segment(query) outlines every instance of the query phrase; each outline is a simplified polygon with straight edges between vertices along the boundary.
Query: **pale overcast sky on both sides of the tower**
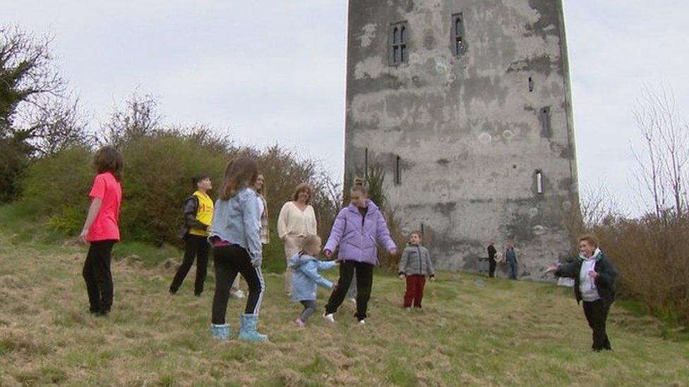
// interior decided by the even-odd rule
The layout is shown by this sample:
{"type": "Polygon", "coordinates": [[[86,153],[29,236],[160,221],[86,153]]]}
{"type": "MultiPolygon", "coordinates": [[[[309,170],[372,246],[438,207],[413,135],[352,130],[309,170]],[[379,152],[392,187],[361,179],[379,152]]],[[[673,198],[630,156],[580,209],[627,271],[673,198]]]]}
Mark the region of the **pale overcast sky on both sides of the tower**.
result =
{"type": "MultiPolygon", "coordinates": [[[[630,144],[645,85],[689,104],[689,1],[564,0],[580,185],[638,212],[630,144]],[[683,66],[685,65],[685,66],[683,66]]],[[[341,175],[347,1],[0,0],[0,23],[52,34],[94,127],[133,91],[164,120],[278,142],[341,175]]]]}

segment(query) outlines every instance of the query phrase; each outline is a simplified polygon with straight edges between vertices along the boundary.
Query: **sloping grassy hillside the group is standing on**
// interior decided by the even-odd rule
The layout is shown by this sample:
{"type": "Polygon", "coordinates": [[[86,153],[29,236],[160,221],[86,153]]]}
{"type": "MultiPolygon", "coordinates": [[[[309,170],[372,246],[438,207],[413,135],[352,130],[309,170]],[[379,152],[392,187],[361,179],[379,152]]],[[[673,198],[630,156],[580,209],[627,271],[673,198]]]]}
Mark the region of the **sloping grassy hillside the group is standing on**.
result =
{"type": "MultiPolygon", "coordinates": [[[[123,244],[112,314],[91,317],[85,247],[2,216],[0,225],[1,386],[689,386],[689,343],[661,338],[655,319],[613,306],[614,351],[593,353],[570,289],[469,274],[441,273],[413,313],[400,308],[402,281],[377,275],[368,325],[346,303],[334,325],[314,316],[304,329],[282,276],[266,274],[259,327],[271,342],[216,343],[212,269],[202,297],[192,295],[193,271],[171,296],[174,264],[160,258],[179,254],[123,244]]],[[[230,302],[234,331],[243,305],[230,302]]]]}

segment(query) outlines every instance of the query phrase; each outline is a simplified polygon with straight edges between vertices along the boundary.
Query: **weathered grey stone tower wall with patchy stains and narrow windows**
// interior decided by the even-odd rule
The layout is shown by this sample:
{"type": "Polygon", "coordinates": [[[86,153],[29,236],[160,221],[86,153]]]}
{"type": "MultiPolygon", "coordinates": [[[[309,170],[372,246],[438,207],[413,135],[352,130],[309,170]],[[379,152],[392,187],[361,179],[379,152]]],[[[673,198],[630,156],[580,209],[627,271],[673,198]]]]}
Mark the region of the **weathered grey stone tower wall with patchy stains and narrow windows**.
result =
{"type": "Polygon", "coordinates": [[[488,240],[513,240],[521,275],[542,278],[570,251],[578,201],[561,0],[350,0],[348,29],[347,171],[366,152],[386,168],[390,204],[407,228],[424,224],[437,266],[476,269],[488,240]],[[454,56],[460,12],[465,53],[454,56]],[[389,66],[390,23],[402,20],[409,61],[389,66]]]}

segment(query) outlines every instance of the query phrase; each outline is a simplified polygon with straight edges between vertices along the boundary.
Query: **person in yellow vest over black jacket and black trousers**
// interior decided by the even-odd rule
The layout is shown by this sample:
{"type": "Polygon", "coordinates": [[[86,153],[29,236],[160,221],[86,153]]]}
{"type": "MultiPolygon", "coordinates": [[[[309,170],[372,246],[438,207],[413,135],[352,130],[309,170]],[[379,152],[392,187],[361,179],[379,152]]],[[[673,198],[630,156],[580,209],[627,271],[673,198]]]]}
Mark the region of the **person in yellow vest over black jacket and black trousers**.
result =
{"type": "Polygon", "coordinates": [[[213,201],[208,196],[208,191],[212,189],[212,182],[208,175],[199,173],[191,179],[191,183],[196,191],[184,201],[184,223],[180,231],[180,236],[184,239],[184,259],[172,279],[170,294],[177,293],[196,259],[194,295],[198,297],[203,293],[203,283],[208,272],[208,226],[213,218],[213,201]]]}

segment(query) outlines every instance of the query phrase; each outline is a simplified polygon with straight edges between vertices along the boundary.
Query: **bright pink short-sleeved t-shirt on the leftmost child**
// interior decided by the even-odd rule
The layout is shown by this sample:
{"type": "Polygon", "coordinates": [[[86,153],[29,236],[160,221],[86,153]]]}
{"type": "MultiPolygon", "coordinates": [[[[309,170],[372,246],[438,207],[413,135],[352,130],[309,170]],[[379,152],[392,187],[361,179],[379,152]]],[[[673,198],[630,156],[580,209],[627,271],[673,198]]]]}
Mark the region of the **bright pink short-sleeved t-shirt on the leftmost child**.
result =
{"type": "Polygon", "coordinates": [[[102,205],[88,229],[87,242],[98,240],[119,240],[119,206],[122,202],[122,186],[112,173],[98,174],[93,179],[93,187],[88,197],[102,199],[102,205]]]}

